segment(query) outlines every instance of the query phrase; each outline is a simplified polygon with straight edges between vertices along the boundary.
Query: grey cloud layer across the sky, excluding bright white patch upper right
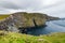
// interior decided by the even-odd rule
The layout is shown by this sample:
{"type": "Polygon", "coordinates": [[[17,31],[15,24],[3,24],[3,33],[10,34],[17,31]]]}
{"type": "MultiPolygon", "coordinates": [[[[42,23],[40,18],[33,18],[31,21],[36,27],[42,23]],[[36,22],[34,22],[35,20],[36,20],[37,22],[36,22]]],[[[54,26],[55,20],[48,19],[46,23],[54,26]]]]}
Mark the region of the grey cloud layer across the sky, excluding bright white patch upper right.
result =
{"type": "Polygon", "coordinates": [[[5,0],[5,1],[0,0],[0,11],[9,12],[6,9],[26,10],[26,11],[35,11],[35,12],[40,11],[42,13],[44,12],[52,16],[64,17],[63,15],[65,14],[64,13],[65,12],[65,0],[61,0],[61,2],[57,2],[52,5],[43,5],[41,1],[42,0],[5,0]]]}

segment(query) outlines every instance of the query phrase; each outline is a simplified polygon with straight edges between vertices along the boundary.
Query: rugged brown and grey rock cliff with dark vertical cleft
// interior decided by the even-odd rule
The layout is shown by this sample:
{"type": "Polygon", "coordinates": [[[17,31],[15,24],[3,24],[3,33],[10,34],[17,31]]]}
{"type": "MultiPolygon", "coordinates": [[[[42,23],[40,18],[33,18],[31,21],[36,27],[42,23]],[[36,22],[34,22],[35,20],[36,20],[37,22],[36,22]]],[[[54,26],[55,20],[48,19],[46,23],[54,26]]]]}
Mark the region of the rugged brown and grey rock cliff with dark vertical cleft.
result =
{"type": "MultiPolygon", "coordinates": [[[[52,17],[51,17],[52,18],[52,17]]],[[[11,14],[3,22],[0,22],[0,30],[18,32],[18,28],[44,26],[48,15],[41,13],[18,12],[11,14]]]]}

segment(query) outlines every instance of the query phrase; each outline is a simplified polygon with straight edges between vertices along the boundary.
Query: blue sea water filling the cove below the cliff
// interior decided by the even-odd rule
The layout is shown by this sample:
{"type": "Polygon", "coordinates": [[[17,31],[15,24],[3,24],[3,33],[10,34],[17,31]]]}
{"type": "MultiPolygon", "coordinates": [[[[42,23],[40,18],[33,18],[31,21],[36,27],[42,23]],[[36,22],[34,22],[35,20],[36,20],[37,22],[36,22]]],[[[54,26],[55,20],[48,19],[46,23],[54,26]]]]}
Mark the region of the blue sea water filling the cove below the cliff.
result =
{"type": "Polygon", "coordinates": [[[48,34],[52,32],[65,32],[65,20],[47,22],[47,27],[31,29],[27,33],[32,35],[48,34]]]}

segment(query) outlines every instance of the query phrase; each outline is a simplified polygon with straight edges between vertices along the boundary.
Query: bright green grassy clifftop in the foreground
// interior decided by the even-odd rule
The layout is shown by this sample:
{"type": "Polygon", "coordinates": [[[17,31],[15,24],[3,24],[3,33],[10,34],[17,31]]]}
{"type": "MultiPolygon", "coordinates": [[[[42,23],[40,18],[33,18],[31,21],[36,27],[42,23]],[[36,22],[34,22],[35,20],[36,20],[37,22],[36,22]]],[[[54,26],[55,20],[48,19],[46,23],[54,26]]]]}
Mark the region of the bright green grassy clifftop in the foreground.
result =
{"type": "Polygon", "coordinates": [[[0,31],[0,43],[65,43],[65,32],[36,37],[0,31]]]}

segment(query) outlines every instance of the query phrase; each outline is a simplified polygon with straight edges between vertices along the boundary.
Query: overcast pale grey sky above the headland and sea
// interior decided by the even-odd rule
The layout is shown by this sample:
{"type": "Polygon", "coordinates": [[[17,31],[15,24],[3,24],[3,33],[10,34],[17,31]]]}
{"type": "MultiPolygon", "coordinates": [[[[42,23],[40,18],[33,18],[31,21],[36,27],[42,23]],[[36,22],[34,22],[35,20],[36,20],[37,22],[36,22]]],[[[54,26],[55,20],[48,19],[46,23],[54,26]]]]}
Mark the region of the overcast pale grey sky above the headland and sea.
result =
{"type": "Polygon", "coordinates": [[[0,0],[0,14],[38,12],[65,17],[65,0],[0,0]]]}

